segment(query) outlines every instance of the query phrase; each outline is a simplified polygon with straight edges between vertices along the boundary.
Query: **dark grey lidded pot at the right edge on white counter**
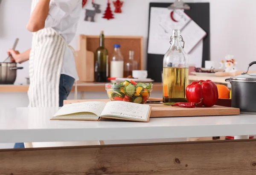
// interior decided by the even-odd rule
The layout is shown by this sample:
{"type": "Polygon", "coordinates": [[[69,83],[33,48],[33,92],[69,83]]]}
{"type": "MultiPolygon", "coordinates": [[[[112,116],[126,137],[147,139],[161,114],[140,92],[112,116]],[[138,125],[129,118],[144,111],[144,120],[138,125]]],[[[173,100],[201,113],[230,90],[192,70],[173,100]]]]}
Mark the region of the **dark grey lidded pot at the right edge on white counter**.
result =
{"type": "Polygon", "coordinates": [[[231,83],[231,107],[240,108],[240,113],[256,114],[256,73],[248,73],[255,64],[251,62],[247,72],[225,80],[231,83]]]}

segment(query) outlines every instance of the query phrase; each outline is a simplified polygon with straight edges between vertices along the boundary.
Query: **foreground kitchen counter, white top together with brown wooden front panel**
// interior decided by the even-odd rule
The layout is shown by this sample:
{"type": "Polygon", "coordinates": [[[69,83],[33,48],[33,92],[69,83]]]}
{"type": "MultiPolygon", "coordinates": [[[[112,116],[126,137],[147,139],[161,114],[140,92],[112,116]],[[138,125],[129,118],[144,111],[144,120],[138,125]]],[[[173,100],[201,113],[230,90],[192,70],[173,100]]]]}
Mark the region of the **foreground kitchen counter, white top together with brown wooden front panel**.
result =
{"type": "MultiPolygon", "coordinates": [[[[0,143],[255,135],[256,116],[50,121],[58,108],[0,109],[0,143]]],[[[255,175],[256,141],[198,141],[0,150],[2,175],[255,175]]]]}

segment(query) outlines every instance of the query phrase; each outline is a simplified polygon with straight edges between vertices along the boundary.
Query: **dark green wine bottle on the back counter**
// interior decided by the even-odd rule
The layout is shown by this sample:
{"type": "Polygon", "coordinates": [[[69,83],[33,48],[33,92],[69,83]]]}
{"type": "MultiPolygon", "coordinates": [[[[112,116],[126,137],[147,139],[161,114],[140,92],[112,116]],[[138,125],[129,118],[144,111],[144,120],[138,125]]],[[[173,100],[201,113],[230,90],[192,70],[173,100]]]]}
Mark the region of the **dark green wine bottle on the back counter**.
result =
{"type": "Polygon", "coordinates": [[[99,48],[95,52],[95,82],[107,82],[108,79],[108,50],[105,48],[104,32],[99,36],[99,48]]]}

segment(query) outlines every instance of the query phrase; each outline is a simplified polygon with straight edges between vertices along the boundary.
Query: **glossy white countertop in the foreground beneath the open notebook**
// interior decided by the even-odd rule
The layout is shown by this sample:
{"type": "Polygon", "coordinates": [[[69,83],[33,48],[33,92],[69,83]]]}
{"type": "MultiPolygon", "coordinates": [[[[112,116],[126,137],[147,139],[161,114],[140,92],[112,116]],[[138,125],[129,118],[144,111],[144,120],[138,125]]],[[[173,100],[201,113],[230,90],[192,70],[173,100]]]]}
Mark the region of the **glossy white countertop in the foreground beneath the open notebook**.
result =
{"type": "Polygon", "coordinates": [[[58,108],[0,108],[0,143],[94,141],[256,135],[256,116],[52,121],[58,108]]]}

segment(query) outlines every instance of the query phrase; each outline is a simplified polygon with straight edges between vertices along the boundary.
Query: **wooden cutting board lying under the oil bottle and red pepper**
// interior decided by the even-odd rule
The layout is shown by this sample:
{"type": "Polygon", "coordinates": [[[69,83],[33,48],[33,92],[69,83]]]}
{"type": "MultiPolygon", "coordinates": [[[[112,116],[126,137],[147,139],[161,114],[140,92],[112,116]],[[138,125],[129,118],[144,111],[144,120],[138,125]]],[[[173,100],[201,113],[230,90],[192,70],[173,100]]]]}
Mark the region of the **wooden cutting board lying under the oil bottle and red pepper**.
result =
{"type": "MultiPolygon", "coordinates": [[[[79,102],[110,102],[109,99],[101,100],[65,100],[64,104],[79,102]]],[[[229,116],[239,115],[240,109],[224,106],[183,108],[172,107],[163,104],[148,104],[152,106],[150,117],[185,117],[185,116],[229,116]]]]}

